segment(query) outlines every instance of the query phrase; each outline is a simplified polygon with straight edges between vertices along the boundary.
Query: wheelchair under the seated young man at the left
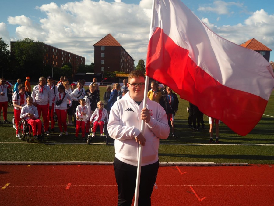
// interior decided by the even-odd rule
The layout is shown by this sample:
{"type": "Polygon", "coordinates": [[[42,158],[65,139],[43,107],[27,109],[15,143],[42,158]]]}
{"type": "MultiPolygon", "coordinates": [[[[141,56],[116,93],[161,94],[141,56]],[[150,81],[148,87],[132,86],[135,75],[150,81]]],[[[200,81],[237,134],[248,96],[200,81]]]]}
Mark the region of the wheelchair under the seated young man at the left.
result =
{"type": "MultiPolygon", "coordinates": [[[[29,142],[30,140],[33,141],[32,136],[31,136],[31,132],[32,132],[32,128],[31,125],[28,124],[26,122],[26,120],[22,119],[19,121],[18,123],[18,138],[20,140],[24,140],[27,137],[27,142],[29,142]]],[[[42,136],[42,140],[44,140],[44,123],[42,122],[42,130],[41,130],[41,136],[42,136]]]]}

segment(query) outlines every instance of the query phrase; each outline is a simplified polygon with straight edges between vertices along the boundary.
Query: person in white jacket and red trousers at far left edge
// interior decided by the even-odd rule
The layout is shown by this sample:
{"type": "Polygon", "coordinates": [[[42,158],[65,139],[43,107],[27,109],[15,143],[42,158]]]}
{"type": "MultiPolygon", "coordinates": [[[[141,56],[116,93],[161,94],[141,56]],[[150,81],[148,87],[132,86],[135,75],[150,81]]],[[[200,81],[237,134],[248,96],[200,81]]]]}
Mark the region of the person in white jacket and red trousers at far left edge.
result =
{"type": "Polygon", "coordinates": [[[5,78],[0,79],[0,124],[1,124],[1,110],[3,108],[3,118],[4,124],[9,124],[7,120],[7,113],[8,113],[8,89],[12,87],[5,78]]]}

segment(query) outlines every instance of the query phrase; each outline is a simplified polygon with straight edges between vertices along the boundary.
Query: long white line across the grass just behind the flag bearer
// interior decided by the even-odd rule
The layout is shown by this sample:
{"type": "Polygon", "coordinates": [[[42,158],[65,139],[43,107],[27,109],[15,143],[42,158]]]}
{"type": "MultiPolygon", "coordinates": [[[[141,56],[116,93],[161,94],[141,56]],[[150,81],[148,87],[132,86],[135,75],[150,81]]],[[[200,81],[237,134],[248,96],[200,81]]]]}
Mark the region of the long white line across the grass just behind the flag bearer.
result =
{"type": "MultiPolygon", "coordinates": [[[[46,143],[46,142],[0,142],[0,144],[86,144],[86,143],[46,143]]],[[[91,145],[105,145],[105,143],[90,143],[91,145]]],[[[114,145],[109,143],[109,145],[114,145]]],[[[184,144],[184,143],[160,143],[160,145],[185,145],[185,146],[274,146],[274,144],[184,144]]]]}

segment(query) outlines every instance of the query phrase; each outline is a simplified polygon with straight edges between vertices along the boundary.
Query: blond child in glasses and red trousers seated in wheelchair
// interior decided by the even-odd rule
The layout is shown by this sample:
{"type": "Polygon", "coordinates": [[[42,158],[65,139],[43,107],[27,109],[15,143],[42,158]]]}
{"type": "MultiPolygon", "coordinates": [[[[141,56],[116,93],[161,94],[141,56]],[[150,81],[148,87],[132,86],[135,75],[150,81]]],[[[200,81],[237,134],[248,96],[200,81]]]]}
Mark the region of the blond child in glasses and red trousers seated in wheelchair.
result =
{"type": "Polygon", "coordinates": [[[96,132],[98,125],[100,127],[100,133],[101,133],[101,137],[102,137],[105,121],[106,121],[106,123],[108,122],[107,110],[103,106],[104,106],[104,103],[102,101],[99,101],[97,103],[98,108],[96,108],[96,110],[93,112],[93,114],[90,117],[90,124],[92,124],[92,121],[94,119],[92,137],[95,136],[95,132],[96,132]]]}

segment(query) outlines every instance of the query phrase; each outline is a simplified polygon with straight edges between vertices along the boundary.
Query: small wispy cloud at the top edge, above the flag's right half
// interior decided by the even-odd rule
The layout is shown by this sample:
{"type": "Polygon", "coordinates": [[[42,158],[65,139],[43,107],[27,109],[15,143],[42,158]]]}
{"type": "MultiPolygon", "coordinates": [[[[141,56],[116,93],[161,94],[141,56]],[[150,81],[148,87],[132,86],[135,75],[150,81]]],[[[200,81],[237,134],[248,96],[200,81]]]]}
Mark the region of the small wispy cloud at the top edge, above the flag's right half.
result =
{"type": "Polygon", "coordinates": [[[217,0],[213,2],[212,6],[199,6],[198,11],[214,12],[217,14],[232,14],[234,12],[230,11],[231,6],[242,7],[242,4],[217,0]]]}

